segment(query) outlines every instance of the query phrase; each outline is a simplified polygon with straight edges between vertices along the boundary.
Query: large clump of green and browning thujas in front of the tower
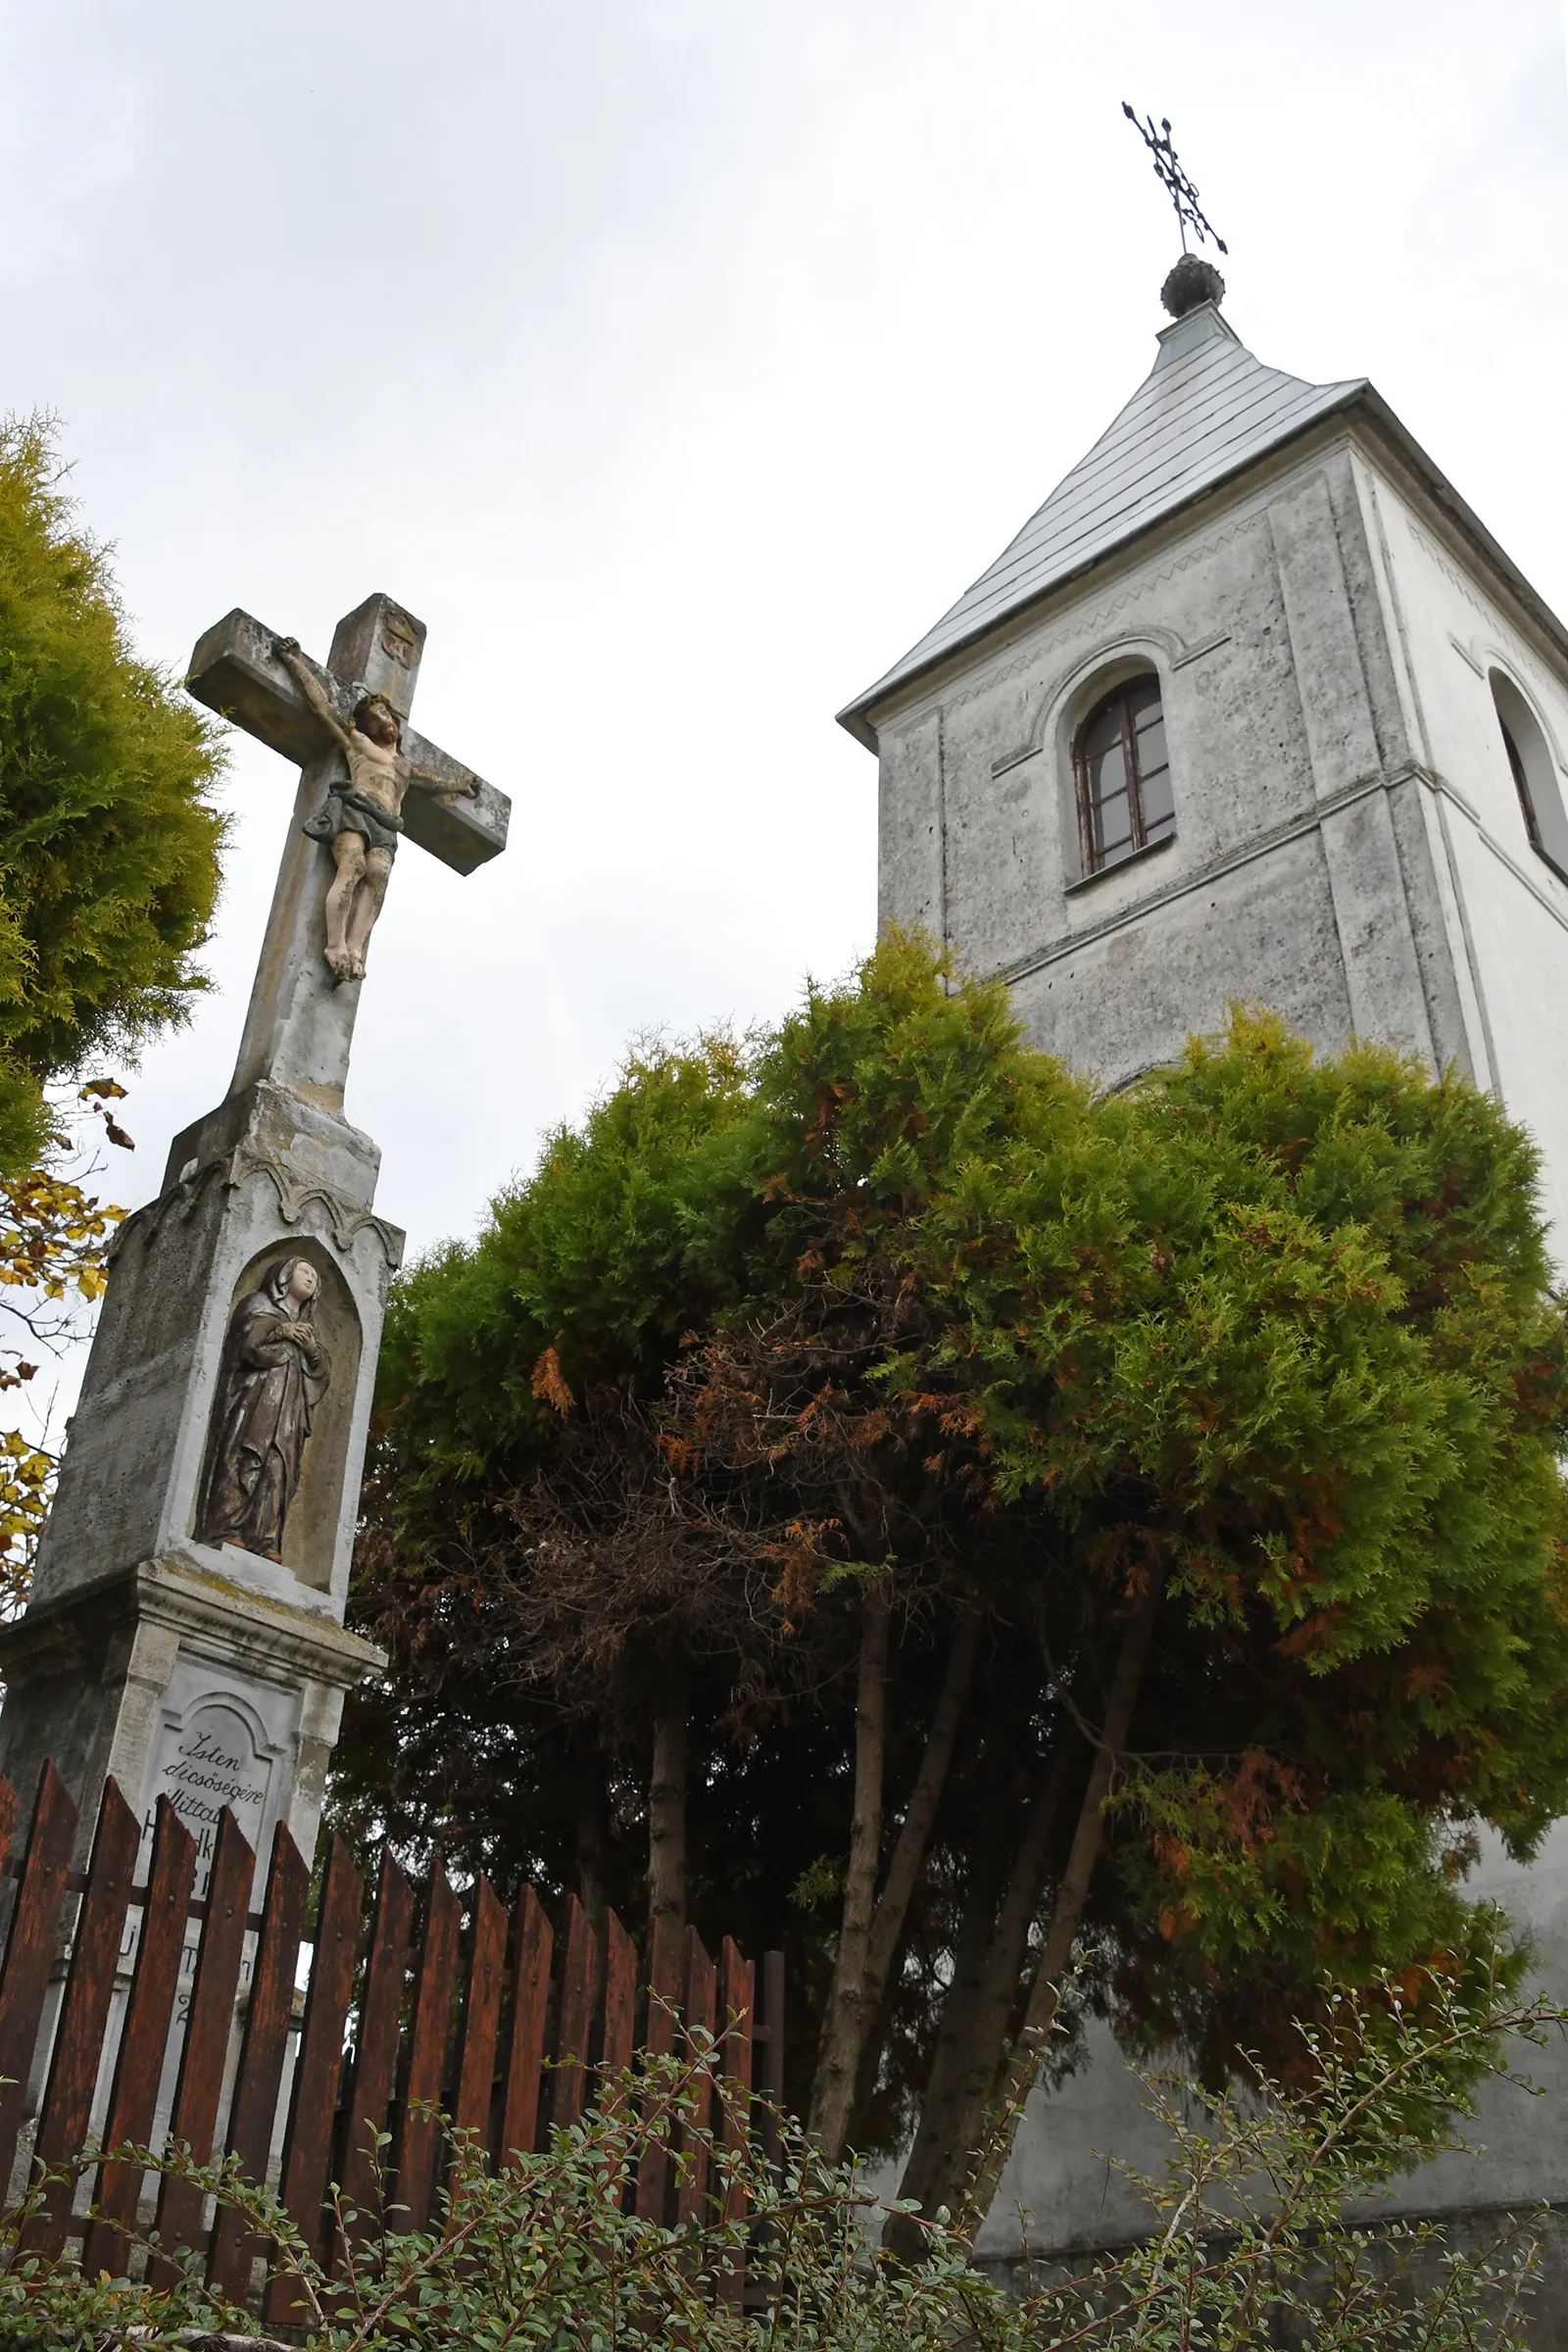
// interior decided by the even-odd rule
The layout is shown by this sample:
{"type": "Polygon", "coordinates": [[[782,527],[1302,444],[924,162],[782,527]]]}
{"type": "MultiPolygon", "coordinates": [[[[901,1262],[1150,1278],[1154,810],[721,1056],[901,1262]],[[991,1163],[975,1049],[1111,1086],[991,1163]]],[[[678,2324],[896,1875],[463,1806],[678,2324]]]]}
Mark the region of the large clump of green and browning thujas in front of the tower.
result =
{"type": "Polygon", "coordinates": [[[1211,2079],[1465,1987],[1476,1828],[1568,1804],[1533,1181],[1267,1016],[1095,1098],[903,936],[628,1068],[400,1291],[362,1802],[402,1740],[404,1835],[783,1940],[792,2096],[912,2133],[926,2211],[985,2209],[1070,1966],[1211,2079]]]}

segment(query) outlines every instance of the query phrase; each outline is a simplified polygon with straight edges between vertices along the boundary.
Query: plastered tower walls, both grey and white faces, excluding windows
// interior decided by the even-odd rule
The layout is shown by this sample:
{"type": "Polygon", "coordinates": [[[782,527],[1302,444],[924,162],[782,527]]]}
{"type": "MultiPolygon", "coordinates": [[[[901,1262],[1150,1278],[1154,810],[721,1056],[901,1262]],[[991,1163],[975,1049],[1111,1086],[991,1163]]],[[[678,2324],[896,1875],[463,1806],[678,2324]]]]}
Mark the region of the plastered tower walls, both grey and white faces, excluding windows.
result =
{"type": "MultiPolygon", "coordinates": [[[[1168,1061],[1229,1000],[1321,1049],[1352,1033],[1458,1063],[1537,1136],[1568,1254],[1568,884],[1533,851],[1497,729],[1502,670],[1568,790],[1568,668],[1486,550],[1363,423],[1338,419],[992,630],[872,713],[882,920],[1006,974],[1032,1037],[1105,1084],[1168,1061]],[[1119,670],[1154,668],[1175,837],[1079,873],[1070,746],[1119,670]]],[[[1474,1879],[1530,1929],[1568,1997],[1568,1825],[1528,1870],[1474,1879]]],[[[1481,2157],[1401,2187],[1410,2209],[1568,2199],[1568,2067],[1500,2091],[1481,2157]]],[[[980,2239],[1016,2258],[1143,2220],[1110,2157],[1159,2143],[1110,2037],[1037,2100],[980,2239]]]]}

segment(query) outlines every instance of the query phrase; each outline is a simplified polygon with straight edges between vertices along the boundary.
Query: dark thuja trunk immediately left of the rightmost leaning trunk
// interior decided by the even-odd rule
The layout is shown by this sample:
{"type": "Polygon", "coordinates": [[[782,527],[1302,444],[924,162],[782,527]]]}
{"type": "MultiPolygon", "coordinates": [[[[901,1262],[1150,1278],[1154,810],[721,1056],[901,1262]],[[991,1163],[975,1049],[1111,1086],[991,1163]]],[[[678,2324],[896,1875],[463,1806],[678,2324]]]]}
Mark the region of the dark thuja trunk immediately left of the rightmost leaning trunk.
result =
{"type": "MultiPolygon", "coordinates": [[[[1048,1759],[1018,1839],[1001,1910],[994,1917],[987,1915],[985,1947],[973,1966],[973,1980],[964,1987],[961,2004],[954,2006],[952,2030],[943,2013],[931,2082],[919,2110],[919,2131],[898,2185],[898,2194],[917,2199],[926,2216],[936,2213],[938,2206],[957,2211],[976,2161],[985,2110],[1006,2051],[1006,2030],[1018,2006],[1018,1978],[1046,1886],[1067,1776],[1079,1755],[1079,1740],[1067,1736],[1048,1759]]],[[[954,1966],[950,2004],[954,2004],[959,1983],[954,1966]]],[[[924,2232],[910,2225],[898,2230],[893,2223],[889,2230],[893,2251],[905,2260],[917,2260],[924,2232]]]]}

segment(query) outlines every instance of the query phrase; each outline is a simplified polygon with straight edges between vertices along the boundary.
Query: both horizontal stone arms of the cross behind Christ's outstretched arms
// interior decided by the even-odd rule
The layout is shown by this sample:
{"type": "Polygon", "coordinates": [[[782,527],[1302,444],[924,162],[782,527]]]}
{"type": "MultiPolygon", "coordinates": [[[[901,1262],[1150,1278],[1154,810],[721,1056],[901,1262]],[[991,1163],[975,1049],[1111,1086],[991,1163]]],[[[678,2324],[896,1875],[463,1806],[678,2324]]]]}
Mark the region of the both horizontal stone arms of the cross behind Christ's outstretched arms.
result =
{"type": "MultiPolygon", "coordinates": [[[[186,689],[197,703],[207,703],[219,717],[244,727],[284,760],[308,767],[310,760],[334,750],[334,741],[277,661],[275,640],[277,630],[254,621],[252,614],[230,612],[195,647],[186,689]]],[[[348,727],[360,687],[346,684],[315,661],[310,668],[322,694],[348,727]]],[[[411,842],[461,875],[505,849],[505,828],[512,814],[505,793],[484,783],[440,746],[428,743],[407,722],[402,755],[414,771],[402,807],[402,823],[411,842]],[[468,797],[470,783],[480,786],[473,797],[468,797]]]]}

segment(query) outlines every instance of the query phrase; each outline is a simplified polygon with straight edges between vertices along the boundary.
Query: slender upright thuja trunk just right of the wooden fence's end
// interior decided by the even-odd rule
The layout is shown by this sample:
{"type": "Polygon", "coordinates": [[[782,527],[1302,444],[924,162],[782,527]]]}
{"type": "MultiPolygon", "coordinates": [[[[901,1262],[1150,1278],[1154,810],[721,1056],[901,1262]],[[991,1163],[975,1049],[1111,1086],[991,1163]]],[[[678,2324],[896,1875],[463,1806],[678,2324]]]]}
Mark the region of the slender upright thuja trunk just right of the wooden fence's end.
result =
{"type": "Polygon", "coordinates": [[[860,2046],[875,2004],[865,2002],[865,1964],[870,1959],[872,1912],[877,1905],[877,1860],[882,1856],[882,1773],[886,1759],[886,1653],[889,1590],[882,1578],[865,1592],[860,1621],[860,1684],[856,1691],[856,1811],[849,1828],[849,1870],[844,1872],[844,1917],[839,1955],[832,1966],[823,2046],[811,2084],[806,2129],[827,2159],[844,2147],[849,2107],[856,2096],[860,2046]]]}

